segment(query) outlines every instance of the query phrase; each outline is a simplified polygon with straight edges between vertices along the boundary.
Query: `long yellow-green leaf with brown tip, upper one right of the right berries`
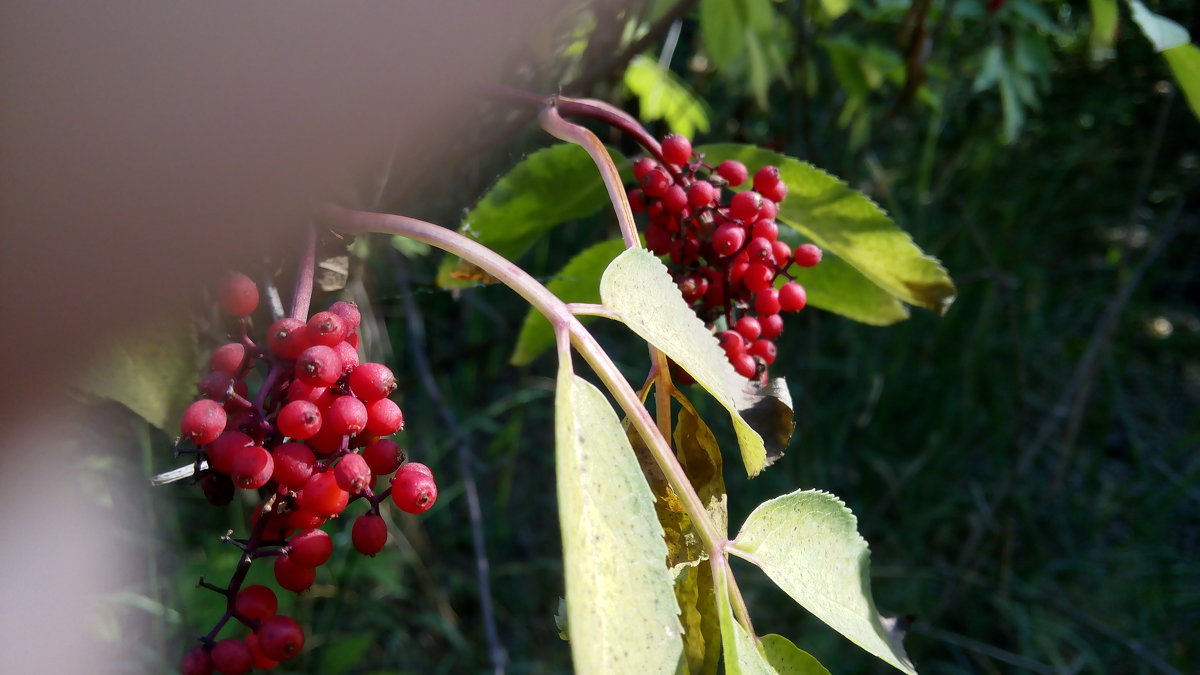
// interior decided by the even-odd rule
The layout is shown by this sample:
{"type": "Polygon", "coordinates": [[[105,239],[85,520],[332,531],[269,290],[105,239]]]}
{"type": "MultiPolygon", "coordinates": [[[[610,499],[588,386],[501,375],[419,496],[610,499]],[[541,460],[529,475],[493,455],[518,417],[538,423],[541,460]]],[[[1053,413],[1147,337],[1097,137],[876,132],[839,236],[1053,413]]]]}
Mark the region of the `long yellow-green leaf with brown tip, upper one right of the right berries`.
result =
{"type": "Polygon", "coordinates": [[[946,268],[926,256],[907,232],[869,197],[808,162],[752,145],[702,145],[707,161],[774,165],[787,183],[780,222],[832,251],[876,286],[910,305],[944,313],[954,301],[946,268]]]}

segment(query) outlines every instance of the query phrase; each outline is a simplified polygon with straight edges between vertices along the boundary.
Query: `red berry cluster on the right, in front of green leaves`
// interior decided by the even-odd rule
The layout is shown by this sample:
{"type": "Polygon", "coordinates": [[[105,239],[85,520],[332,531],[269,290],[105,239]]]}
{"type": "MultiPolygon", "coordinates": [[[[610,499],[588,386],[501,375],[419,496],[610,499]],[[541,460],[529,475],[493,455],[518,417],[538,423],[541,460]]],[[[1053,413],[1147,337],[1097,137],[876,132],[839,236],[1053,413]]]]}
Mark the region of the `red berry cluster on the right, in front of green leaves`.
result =
{"type": "Polygon", "coordinates": [[[821,249],[802,244],[793,250],[779,239],[775,216],[787,184],[778,167],[760,168],[751,190],[726,198],[722,189],[751,180],[742,162],[708,166],[690,141],[673,133],[662,139],[661,159],[634,162],[640,186],[629,191],[629,201],[649,216],[646,244],[668,257],[684,300],[718,330],[733,369],[743,377],[766,377],[775,362],[774,340],[784,331],[780,312],[800,311],[808,303],[788,270],[817,264],[821,249]]]}

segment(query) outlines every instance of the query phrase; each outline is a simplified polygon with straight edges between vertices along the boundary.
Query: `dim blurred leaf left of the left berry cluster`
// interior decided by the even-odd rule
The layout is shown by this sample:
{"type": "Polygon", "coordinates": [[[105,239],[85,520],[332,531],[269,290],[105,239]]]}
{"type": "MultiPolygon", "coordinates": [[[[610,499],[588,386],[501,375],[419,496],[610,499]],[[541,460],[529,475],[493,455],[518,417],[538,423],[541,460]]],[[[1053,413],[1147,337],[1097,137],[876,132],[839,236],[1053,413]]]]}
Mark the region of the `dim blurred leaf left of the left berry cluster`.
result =
{"type": "Polygon", "coordinates": [[[196,394],[196,331],[186,321],[143,325],[103,341],[79,387],[114,400],[167,434],[196,394]]]}

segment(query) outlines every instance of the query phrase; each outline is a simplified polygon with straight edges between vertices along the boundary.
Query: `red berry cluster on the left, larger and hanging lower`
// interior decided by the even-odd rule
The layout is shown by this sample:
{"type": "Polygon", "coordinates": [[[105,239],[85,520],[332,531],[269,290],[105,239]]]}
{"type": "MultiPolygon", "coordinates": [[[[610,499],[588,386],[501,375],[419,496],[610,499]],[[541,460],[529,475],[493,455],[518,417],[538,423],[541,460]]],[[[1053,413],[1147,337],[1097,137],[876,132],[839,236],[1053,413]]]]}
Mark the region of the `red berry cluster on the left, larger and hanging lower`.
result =
{"type": "Polygon", "coordinates": [[[430,468],[406,462],[400,444],[388,437],[404,428],[400,407],[388,398],[396,377],[383,364],[360,363],[361,316],[353,303],[334,303],[307,321],[278,319],[262,346],[250,336],[248,317],[258,306],[254,282],[229,276],[220,300],[238,319],[240,335],[214,350],[210,372],[199,382],[202,398],[184,412],[180,448],[196,453],[196,476],[209,502],[227,504],[235,489],[254,490],[262,501],[250,537],[229,539],[245,551],[229,585],[200,581],[226,596],[227,611],[184,658],[184,675],[274,668],[304,647],[300,625],[276,614],[274,591],[241,587],[254,560],[274,557],[280,587],[299,593],[332,554],[322,526],[352,501],[370,503],[350,538],[359,552],[373,556],[388,540],[382,501],[390,496],[400,509],[422,513],[438,496],[430,468]],[[248,382],[259,380],[251,400],[248,382]],[[392,473],[390,485],[376,494],[378,479],[392,473]],[[230,619],[250,634],[217,641],[230,619]]]}

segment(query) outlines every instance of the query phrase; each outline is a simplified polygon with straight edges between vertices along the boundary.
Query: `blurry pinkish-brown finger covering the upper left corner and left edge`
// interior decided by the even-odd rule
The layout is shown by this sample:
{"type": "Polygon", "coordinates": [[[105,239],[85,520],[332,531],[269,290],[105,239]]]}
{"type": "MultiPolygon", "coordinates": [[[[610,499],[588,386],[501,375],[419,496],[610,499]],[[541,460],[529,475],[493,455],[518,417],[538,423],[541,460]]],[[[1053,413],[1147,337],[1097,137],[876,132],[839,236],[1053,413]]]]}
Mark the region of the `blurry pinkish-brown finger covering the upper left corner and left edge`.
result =
{"type": "Polygon", "coordinates": [[[96,338],[290,246],[313,204],[373,205],[394,148],[430,166],[560,6],[0,6],[0,671],[119,669],[89,651],[89,593],[136,562],[54,417],[96,338]]]}

